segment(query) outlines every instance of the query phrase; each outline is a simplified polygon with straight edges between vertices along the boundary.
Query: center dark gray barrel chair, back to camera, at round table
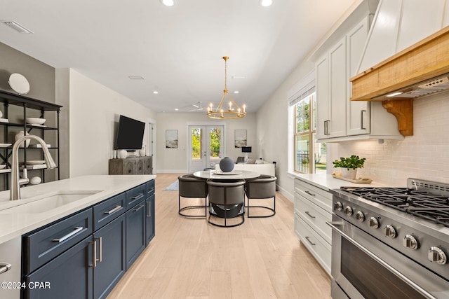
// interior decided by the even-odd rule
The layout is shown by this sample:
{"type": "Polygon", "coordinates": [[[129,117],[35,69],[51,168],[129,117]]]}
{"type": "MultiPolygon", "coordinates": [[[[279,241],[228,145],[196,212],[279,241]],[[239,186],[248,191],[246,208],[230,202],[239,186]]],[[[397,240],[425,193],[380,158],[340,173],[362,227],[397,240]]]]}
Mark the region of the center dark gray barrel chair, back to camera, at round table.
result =
{"type": "Polygon", "coordinates": [[[245,181],[208,181],[209,218],[208,223],[222,228],[231,228],[245,222],[245,181]],[[211,216],[225,219],[225,225],[210,221],[211,216]],[[241,217],[241,222],[228,225],[229,218],[241,217]]]}

